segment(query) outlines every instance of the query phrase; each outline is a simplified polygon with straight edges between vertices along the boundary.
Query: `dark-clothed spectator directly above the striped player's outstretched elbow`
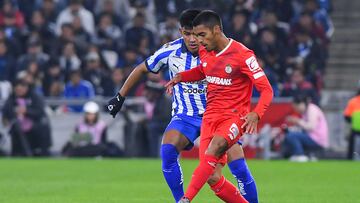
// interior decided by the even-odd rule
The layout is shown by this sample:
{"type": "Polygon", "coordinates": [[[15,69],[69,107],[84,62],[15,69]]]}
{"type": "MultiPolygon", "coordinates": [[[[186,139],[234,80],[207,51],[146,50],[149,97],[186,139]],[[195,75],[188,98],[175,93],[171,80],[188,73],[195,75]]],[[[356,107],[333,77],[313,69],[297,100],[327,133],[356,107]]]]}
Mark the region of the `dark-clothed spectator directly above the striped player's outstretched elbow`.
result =
{"type": "Polygon", "coordinates": [[[139,47],[150,50],[155,48],[154,34],[145,26],[145,16],[143,14],[136,14],[133,25],[125,31],[125,41],[127,47],[137,48],[138,52],[141,51],[139,47]]]}

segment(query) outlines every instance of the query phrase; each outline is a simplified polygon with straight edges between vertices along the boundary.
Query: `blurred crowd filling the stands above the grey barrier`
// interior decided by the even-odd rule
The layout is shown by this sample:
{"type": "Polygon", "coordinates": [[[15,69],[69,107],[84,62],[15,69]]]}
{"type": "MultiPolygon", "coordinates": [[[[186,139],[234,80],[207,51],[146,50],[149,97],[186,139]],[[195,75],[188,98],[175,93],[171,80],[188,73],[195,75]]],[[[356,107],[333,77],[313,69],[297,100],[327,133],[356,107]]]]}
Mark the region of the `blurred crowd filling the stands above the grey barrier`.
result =
{"type": "Polygon", "coordinates": [[[255,50],[276,96],[301,91],[318,103],[334,30],[329,0],[1,0],[0,99],[19,78],[46,97],[113,96],[180,36],[186,8],[219,12],[227,36],[255,50]]]}

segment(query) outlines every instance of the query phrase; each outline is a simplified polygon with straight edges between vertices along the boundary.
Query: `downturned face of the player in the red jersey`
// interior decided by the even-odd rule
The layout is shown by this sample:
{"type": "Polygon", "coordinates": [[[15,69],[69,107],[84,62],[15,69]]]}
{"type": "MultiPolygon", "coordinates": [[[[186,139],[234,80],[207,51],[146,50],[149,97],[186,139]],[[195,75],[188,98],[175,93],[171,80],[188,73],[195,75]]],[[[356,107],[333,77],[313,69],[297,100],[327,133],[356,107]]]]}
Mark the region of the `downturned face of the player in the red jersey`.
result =
{"type": "Polygon", "coordinates": [[[204,46],[207,51],[213,51],[215,49],[214,28],[211,29],[205,25],[198,25],[194,27],[194,33],[198,42],[204,46]]]}

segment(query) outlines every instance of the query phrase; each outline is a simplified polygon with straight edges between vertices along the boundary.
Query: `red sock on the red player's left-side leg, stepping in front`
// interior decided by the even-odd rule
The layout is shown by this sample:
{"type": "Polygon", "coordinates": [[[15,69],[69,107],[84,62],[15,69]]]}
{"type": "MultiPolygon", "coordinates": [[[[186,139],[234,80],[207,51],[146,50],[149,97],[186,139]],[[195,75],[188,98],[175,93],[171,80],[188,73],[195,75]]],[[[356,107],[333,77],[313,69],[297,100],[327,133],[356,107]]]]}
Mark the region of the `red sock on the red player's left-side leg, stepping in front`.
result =
{"type": "Polygon", "coordinates": [[[190,184],[184,195],[185,197],[189,200],[194,199],[209,177],[215,172],[217,162],[218,158],[215,156],[205,155],[204,160],[200,161],[199,166],[195,169],[192,175],[190,184]]]}

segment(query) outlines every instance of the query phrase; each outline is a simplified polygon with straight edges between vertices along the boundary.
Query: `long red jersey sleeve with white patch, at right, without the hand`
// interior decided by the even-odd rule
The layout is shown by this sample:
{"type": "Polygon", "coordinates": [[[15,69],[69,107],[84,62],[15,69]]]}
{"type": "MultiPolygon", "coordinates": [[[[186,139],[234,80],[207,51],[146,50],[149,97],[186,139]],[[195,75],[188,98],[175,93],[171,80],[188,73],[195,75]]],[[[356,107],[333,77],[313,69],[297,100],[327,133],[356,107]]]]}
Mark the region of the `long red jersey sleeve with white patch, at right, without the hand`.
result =
{"type": "Polygon", "coordinates": [[[261,118],[271,103],[273,90],[253,51],[247,50],[242,56],[241,72],[250,78],[255,88],[260,92],[258,104],[253,111],[261,118]]]}

